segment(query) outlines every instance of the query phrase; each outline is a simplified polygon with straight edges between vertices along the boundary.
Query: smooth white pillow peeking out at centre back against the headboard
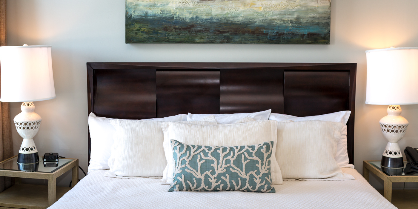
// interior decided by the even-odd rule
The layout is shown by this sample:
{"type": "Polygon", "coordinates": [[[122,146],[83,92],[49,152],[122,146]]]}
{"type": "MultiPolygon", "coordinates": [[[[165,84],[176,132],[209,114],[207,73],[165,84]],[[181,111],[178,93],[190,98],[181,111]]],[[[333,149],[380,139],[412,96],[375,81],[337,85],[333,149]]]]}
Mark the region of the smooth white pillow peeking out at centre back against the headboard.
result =
{"type": "Polygon", "coordinates": [[[187,120],[202,120],[209,115],[213,115],[218,124],[230,124],[237,122],[244,117],[251,117],[255,120],[268,120],[271,110],[252,113],[234,113],[234,114],[187,114],[187,120]]]}

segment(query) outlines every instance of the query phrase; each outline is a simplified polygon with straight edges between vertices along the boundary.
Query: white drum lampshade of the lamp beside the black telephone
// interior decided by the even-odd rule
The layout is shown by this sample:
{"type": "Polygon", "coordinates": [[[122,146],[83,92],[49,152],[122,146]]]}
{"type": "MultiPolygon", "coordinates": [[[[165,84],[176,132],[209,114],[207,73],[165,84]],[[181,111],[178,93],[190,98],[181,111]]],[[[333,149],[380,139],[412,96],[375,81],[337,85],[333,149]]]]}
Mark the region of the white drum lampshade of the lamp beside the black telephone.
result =
{"type": "Polygon", "coordinates": [[[366,51],[366,104],[418,104],[418,47],[366,51]]]}

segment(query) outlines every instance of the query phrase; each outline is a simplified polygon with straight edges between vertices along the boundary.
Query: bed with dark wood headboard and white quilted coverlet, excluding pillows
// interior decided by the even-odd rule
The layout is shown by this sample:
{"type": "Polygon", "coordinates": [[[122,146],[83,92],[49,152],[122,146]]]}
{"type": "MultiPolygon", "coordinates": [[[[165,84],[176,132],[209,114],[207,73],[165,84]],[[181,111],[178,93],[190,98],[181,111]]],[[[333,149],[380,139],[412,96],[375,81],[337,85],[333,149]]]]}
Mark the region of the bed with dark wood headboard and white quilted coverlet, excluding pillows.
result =
{"type": "MultiPolygon", "coordinates": [[[[356,64],[347,63],[87,63],[88,110],[122,119],[350,110],[347,153],[353,163],[355,78],[356,64]]],[[[89,136],[89,160],[90,150],[89,136]]],[[[342,171],[355,180],[283,181],[274,185],[276,193],[260,194],[167,192],[158,179],[109,178],[99,170],[50,208],[395,208],[356,170],[342,171]]]]}

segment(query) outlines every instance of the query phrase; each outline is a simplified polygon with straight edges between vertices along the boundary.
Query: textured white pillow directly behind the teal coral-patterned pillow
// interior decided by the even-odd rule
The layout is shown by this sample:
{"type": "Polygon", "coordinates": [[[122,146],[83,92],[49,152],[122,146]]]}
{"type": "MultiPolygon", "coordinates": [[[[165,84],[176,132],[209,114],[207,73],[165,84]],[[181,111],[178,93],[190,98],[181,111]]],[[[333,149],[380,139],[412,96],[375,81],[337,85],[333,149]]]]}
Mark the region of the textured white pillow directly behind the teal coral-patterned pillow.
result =
{"type": "Polygon", "coordinates": [[[196,125],[181,122],[163,122],[164,151],[167,166],[160,184],[171,184],[173,181],[174,161],[170,140],[182,143],[207,146],[253,145],[273,141],[271,173],[273,184],[283,184],[280,168],[276,162],[275,146],[277,142],[277,121],[257,120],[226,125],[196,125]]]}

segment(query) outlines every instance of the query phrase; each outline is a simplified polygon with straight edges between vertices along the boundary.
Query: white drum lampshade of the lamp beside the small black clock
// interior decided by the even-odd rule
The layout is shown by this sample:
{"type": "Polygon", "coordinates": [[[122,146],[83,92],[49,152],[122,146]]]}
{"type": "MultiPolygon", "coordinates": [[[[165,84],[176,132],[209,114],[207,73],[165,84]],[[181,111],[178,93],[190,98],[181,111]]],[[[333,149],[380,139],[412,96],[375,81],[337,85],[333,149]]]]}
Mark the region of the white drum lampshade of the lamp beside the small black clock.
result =
{"type": "Polygon", "coordinates": [[[51,46],[0,47],[2,102],[54,99],[51,46]]]}

